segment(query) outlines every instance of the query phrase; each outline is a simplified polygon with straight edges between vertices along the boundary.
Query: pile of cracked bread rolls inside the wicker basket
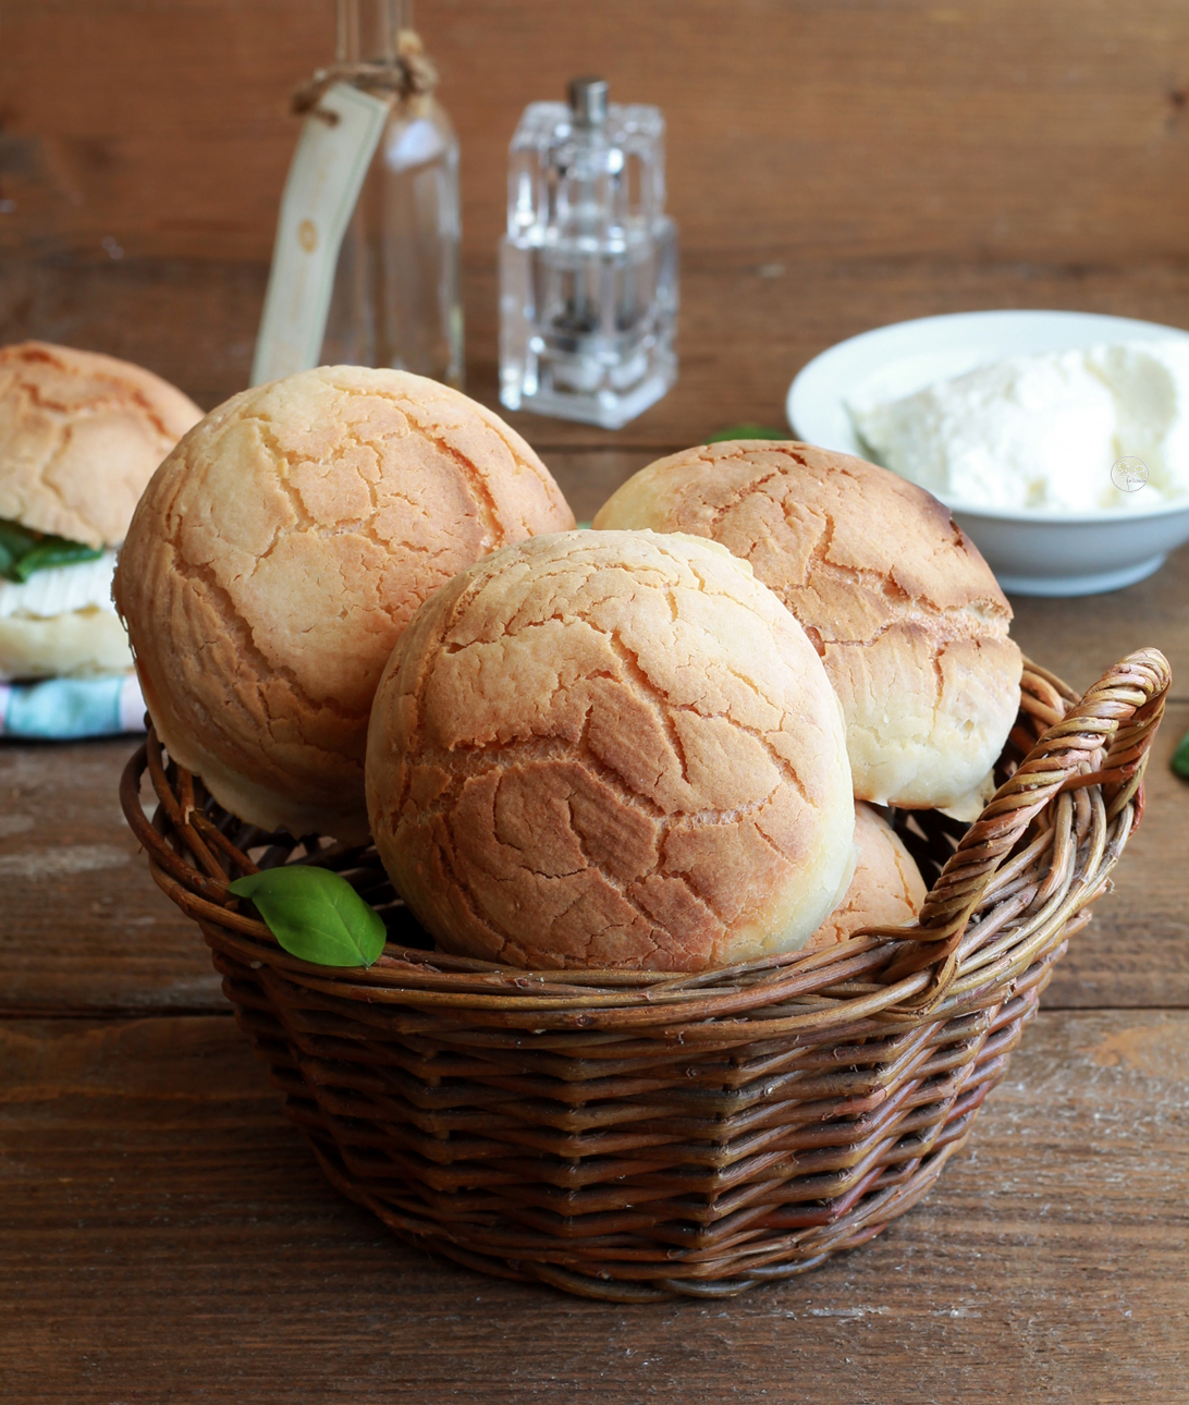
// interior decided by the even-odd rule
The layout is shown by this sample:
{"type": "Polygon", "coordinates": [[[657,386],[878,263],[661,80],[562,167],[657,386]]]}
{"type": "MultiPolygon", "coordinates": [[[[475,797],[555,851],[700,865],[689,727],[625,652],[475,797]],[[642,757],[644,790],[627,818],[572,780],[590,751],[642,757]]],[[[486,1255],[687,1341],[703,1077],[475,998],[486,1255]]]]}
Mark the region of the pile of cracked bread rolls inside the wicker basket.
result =
{"type": "Polygon", "coordinates": [[[911,922],[876,806],[960,806],[1016,715],[1011,610],[928,493],[771,441],[643,469],[574,531],[497,416],[323,367],[209,414],[117,603],[227,809],[371,832],[446,950],[700,971],[911,922]]]}

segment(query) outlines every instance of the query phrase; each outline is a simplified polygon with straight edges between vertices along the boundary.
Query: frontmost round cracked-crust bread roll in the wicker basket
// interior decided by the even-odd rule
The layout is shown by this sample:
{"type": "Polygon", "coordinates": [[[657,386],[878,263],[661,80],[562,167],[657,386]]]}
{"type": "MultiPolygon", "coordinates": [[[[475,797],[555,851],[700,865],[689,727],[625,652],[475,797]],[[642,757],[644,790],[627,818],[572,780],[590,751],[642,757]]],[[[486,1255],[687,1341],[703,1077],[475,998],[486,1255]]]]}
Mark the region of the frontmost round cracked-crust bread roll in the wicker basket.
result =
{"type": "Polygon", "coordinates": [[[702,971],[799,947],[853,868],[841,710],[745,562],[538,537],[414,617],[368,809],[438,943],[526,968],[702,971]]]}

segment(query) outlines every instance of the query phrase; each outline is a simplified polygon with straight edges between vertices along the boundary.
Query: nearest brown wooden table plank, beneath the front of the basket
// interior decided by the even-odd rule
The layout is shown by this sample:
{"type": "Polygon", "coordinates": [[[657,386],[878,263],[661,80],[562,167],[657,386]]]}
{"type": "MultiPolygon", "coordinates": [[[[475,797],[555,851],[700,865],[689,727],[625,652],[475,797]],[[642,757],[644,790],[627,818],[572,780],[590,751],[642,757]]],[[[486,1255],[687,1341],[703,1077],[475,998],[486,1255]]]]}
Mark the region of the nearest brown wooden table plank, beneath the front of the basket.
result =
{"type": "Polygon", "coordinates": [[[1042,1014],[884,1235],[651,1308],[400,1245],[321,1180],[230,1020],[0,1021],[0,1378],[22,1405],[1183,1394],[1183,1012],[1042,1014]]]}

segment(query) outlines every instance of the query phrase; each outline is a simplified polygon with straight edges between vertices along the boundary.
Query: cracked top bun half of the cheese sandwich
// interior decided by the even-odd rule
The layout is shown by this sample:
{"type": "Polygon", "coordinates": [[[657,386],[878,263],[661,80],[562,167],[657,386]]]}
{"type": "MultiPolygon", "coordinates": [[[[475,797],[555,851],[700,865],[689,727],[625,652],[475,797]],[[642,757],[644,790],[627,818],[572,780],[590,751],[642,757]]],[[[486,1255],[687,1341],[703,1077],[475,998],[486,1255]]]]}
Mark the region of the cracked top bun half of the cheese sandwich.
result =
{"type": "Polygon", "coordinates": [[[46,341],[3,347],[0,518],[117,547],[157,464],[201,419],[129,361],[46,341]]]}

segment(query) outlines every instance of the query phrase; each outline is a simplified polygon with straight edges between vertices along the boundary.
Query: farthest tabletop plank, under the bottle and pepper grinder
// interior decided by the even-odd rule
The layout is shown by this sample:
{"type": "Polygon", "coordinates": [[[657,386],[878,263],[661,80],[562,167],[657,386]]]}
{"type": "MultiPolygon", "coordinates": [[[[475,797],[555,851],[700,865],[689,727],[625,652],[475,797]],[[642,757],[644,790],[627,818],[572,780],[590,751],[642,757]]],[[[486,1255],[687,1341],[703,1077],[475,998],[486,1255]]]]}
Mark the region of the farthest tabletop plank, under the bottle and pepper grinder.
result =
{"type": "MultiPolygon", "coordinates": [[[[1189,228],[1189,216],[1186,216],[1189,228]]],[[[248,381],[267,268],[209,260],[0,261],[0,341],[42,337],[147,365],[211,409],[248,381]]],[[[498,409],[494,257],[465,270],[467,391],[498,409]]],[[[654,457],[741,420],[783,427],[796,372],[844,337],[980,308],[1058,308],[1189,327],[1189,266],[1071,268],[919,260],[776,261],[686,256],[674,389],[618,431],[510,414],[546,458],[559,448],[654,457]]]]}

